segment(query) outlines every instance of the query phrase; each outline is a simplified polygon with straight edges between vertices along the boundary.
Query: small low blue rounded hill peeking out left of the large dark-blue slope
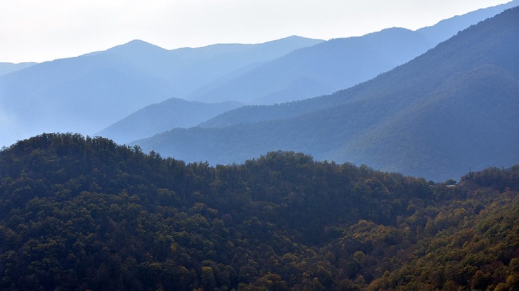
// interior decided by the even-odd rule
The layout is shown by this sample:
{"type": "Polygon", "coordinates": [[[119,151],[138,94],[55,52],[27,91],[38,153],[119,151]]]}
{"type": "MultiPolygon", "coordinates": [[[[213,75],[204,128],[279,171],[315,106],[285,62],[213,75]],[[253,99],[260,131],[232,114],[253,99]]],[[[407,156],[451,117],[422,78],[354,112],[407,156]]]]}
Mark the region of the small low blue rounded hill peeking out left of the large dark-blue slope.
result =
{"type": "Polygon", "coordinates": [[[172,128],[194,127],[228,110],[243,106],[239,102],[202,103],[170,98],[148,105],[96,133],[117,143],[150,137],[172,128]]]}

